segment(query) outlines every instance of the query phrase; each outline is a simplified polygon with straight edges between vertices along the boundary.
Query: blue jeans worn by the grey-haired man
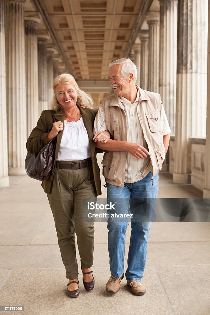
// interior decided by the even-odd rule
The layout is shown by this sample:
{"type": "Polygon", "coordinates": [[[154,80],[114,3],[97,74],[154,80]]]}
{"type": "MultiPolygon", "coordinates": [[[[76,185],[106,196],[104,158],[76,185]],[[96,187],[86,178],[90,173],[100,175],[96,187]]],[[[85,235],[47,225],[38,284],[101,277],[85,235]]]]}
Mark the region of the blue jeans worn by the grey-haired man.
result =
{"type": "MultiPolygon", "coordinates": [[[[129,281],[142,280],[146,263],[149,230],[158,194],[158,173],[153,178],[153,185],[151,178],[152,173],[149,172],[149,174],[140,181],[135,183],[124,183],[124,187],[106,183],[108,203],[110,202],[110,199],[116,198],[115,200],[117,200],[115,213],[129,214],[129,205],[131,205],[131,213],[138,212],[140,215],[140,220],[132,221],[131,219],[131,238],[127,261],[128,268],[125,272],[125,277],[129,281]],[[121,199],[121,204],[119,203],[118,198],[123,198],[121,199]],[[138,203],[137,200],[139,201],[138,203]],[[143,200],[148,200],[149,202],[146,203],[146,207],[143,200]],[[134,204],[134,211],[132,211],[132,204],[134,204]],[[136,205],[138,205],[138,207],[136,205]],[[141,218],[145,218],[145,209],[146,219],[141,220],[141,218]]],[[[108,251],[110,271],[112,277],[119,278],[124,272],[125,232],[129,225],[129,219],[125,218],[119,220],[111,217],[113,212],[108,211],[108,213],[109,218],[107,227],[109,231],[108,251]]]]}

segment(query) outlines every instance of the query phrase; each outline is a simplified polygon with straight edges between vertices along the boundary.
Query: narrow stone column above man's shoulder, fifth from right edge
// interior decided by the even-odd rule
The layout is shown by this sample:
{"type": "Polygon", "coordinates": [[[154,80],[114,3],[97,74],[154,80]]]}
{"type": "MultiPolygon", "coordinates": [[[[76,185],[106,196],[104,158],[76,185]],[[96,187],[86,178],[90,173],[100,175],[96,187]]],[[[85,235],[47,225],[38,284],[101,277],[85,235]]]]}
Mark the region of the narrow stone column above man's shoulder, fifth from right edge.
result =
{"type": "Polygon", "coordinates": [[[148,63],[149,63],[149,31],[139,31],[141,41],[141,76],[140,87],[143,90],[148,89],[148,63]]]}

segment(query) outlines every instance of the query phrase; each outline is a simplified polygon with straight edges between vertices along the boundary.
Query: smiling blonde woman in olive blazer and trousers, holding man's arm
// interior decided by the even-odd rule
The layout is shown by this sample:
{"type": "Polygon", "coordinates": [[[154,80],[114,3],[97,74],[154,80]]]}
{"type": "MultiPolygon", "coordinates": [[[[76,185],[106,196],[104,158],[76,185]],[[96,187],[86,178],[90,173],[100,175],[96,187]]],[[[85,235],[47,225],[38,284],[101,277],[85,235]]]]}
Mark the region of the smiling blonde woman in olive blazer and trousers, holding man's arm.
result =
{"type": "MultiPolygon", "coordinates": [[[[42,112],[37,126],[29,136],[28,152],[39,152],[57,136],[54,168],[50,178],[42,182],[55,220],[58,244],[66,276],[67,293],[79,296],[78,265],[76,260],[75,233],[81,259],[83,283],[86,290],[94,287],[90,267],[93,264],[94,226],[84,222],[83,198],[96,198],[101,194],[100,171],[96,160],[93,123],[97,110],[92,109],[90,95],[80,90],[74,78],[67,73],[53,81],[54,98],[51,109],[42,112]]],[[[101,133],[106,143],[109,133],[101,133]]]]}

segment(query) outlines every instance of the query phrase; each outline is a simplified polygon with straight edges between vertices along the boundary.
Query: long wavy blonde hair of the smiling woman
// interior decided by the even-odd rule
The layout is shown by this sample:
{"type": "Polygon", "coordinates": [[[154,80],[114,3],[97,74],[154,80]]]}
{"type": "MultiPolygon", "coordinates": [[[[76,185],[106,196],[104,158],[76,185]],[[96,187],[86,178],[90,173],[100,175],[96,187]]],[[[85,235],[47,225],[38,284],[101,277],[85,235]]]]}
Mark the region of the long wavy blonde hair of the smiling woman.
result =
{"type": "Polygon", "coordinates": [[[86,107],[86,108],[95,107],[92,97],[89,94],[87,94],[85,91],[82,91],[81,89],[79,89],[79,86],[77,82],[75,81],[74,77],[69,73],[62,73],[59,76],[57,76],[53,81],[54,95],[50,102],[50,109],[56,111],[58,114],[61,114],[61,115],[63,114],[63,108],[59,104],[56,98],[56,88],[58,84],[60,83],[71,84],[75,87],[76,91],[78,92],[77,104],[79,106],[86,107]]]}

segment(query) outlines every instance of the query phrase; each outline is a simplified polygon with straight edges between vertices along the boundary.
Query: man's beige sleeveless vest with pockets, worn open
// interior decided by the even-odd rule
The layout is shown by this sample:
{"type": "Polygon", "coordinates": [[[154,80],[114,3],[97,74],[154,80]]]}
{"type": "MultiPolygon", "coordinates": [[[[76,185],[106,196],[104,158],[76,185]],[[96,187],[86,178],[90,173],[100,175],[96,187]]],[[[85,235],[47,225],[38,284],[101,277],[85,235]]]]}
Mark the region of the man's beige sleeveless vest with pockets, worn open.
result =
{"type": "MultiPolygon", "coordinates": [[[[163,126],[160,120],[161,101],[160,94],[139,89],[139,101],[137,115],[143,129],[144,138],[149,149],[149,169],[152,178],[162,168],[165,159],[163,145],[163,126]]],[[[111,95],[101,100],[101,106],[105,114],[107,130],[111,137],[117,141],[127,141],[127,125],[124,106],[120,102],[120,96],[111,95]]],[[[105,151],[102,164],[103,175],[106,182],[115,186],[124,186],[126,152],[105,151]]],[[[151,181],[152,184],[152,181],[151,181]]]]}

